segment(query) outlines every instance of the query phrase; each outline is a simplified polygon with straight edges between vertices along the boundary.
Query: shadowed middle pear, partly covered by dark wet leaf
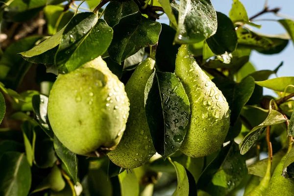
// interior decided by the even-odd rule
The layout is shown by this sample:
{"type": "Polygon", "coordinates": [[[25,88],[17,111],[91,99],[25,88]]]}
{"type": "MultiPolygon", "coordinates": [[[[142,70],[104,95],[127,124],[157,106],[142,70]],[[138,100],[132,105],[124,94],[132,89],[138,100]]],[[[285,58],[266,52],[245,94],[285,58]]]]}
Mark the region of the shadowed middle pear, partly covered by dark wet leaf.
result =
{"type": "Polygon", "coordinates": [[[110,160],[126,169],[137,168],[155,154],[145,115],[144,93],[148,78],[154,72],[155,61],[145,59],[125,85],[130,100],[130,115],[122,141],[108,154],[110,160]]]}

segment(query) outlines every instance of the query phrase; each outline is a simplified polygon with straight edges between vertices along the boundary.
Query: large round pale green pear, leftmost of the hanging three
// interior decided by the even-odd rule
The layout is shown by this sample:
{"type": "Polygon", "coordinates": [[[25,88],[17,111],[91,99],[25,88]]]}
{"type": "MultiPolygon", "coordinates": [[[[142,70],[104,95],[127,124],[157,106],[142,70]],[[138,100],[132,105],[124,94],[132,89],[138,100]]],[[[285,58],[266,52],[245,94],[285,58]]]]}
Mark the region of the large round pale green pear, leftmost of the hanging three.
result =
{"type": "Polygon", "coordinates": [[[76,154],[107,153],[120,142],[129,100],[123,83],[99,56],[59,74],[48,101],[48,118],[60,142],[76,154]]]}

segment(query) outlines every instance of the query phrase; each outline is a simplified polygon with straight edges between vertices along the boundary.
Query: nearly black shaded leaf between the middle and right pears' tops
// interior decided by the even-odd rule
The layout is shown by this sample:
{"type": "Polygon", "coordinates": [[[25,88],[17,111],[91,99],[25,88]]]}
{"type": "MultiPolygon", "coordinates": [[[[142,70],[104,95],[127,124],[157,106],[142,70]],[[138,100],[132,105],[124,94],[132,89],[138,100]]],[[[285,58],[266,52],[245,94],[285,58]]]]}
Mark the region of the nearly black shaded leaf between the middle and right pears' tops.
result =
{"type": "Polygon", "coordinates": [[[156,49],[156,66],[162,72],[174,72],[175,58],[180,45],[173,45],[175,30],[166,24],[161,24],[162,30],[159,35],[156,49]]]}

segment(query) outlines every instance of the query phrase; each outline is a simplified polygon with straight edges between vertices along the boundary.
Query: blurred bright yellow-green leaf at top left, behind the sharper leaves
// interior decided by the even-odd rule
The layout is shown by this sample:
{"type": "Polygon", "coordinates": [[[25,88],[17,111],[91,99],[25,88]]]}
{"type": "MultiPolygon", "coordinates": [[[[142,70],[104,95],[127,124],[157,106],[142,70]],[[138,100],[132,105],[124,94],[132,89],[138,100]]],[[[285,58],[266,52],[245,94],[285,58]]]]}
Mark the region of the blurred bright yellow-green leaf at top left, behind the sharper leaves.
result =
{"type": "Polygon", "coordinates": [[[63,6],[47,5],[44,8],[44,15],[46,17],[48,34],[53,35],[68,24],[73,18],[74,13],[71,11],[64,12],[63,6]]]}

